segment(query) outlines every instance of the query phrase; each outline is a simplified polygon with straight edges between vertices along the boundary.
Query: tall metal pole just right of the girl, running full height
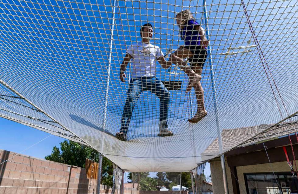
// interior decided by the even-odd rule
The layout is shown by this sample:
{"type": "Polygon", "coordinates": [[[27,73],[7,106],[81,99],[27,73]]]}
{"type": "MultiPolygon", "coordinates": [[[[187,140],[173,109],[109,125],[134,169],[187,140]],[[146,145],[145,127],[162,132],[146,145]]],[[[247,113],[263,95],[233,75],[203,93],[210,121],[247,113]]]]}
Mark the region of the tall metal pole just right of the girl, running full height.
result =
{"type": "MultiPolygon", "coordinates": [[[[205,34],[206,38],[210,40],[209,37],[209,26],[208,26],[208,15],[207,15],[207,8],[206,8],[206,2],[203,0],[203,5],[204,5],[204,19],[205,19],[205,34]]],[[[220,130],[219,130],[219,118],[218,118],[218,110],[217,110],[217,99],[216,99],[216,86],[215,86],[215,81],[214,81],[214,73],[213,73],[213,62],[212,62],[212,54],[211,54],[211,48],[210,48],[210,41],[208,44],[208,49],[207,49],[208,55],[209,55],[209,67],[210,67],[210,77],[211,77],[211,85],[212,85],[212,95],[213,95],[213,103],[214,103],[214,112],[215,112],[215,118],[216,118],[216,129],[217,129],[217,137],[218,137],[218,144],[219,144],[219,152],[222,154],[223,152],[223,142],[221,139],[220,135],[220,130]]],[[[225,194],[229,194],[228,191],[228,182],[227,182],[227,177],[226,177],[226,166],[225,166],[225,157],[222,154],[220,156],[220,161],[221,161],[221,167],[223,170],[223,185],[224,185],[224,190],[225,194]]]]}

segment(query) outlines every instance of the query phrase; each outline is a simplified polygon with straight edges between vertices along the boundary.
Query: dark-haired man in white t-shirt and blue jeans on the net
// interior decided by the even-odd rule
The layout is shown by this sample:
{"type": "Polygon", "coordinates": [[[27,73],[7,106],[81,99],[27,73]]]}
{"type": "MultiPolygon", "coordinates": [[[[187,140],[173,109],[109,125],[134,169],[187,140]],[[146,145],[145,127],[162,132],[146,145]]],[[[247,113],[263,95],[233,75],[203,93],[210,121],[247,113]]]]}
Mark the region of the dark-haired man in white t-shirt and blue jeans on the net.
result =
{"type": "Polygon", "coordinates": [[[132,112],[140,94],[143,91],[150,91],[157,95],[160,99],[160,133],[158,136],[170,136],[173,132],[168,130],[168,104],[170,101],[170,92],[164,86],[163,82],[155,77],[156,60],[165,69],[171,66],[171,62],[167,62],[163,56],[163,52],[156,45],[150,44],[150,38],[153,37],[153,28],[151,24],[145,24],[140,29],[142,42],[137,42],[128,47],[124,60],[120,67],[120,80],[124,82],[126,75],[126,66],[131,62],[132,72],[131,80],[127,91],[127,97],[121,118],[120,132],[116,133],[116,137],[126,141],[128,126],[131,120],[132,112]]]}

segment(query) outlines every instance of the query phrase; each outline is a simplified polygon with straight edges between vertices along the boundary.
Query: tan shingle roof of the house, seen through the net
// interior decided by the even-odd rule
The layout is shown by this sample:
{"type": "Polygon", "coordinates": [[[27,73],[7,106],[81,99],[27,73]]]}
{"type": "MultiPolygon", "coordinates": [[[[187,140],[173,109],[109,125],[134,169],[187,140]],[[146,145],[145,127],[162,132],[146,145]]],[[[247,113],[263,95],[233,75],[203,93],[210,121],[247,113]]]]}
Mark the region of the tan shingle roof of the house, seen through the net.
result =
{"type": "MultiPolygon", "coordinates": [[[[244,147],[261,141],[268,141],[282,135],[298,131],[298,122],[287,122],[275,126],[274,124],[224,129],[221,133],[223,152],[236,147],[244,147]],[[252,139],[253,138],[253,139],[252,139]]],[[[218,138],[216,138],[202,153],[202,161],[216,158],[219,155],[218,138]]]]}

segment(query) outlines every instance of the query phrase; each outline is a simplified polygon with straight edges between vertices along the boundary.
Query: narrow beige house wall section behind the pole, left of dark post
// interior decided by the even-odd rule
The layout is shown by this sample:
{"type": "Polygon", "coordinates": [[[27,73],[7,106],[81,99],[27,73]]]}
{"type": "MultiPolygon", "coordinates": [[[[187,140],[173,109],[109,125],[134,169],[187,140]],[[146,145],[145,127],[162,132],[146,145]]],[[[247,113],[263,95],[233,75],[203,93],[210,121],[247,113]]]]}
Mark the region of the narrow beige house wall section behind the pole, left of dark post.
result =
{"type": "MultiPolygon", "coordinates": [[[[212,178],[212,190],[214,194],[224,194],[224,186],[223,186],[223,171],[221,168],[221,163],[219,161],[213,161],[210,163],[211,170],[211,178],[212,178]]],[[[232,179],[231,179],[231,171],[229,166],[226,164],[226,174],[228,179],[228,188],[229,193],[233,193],[232,179]]]]}

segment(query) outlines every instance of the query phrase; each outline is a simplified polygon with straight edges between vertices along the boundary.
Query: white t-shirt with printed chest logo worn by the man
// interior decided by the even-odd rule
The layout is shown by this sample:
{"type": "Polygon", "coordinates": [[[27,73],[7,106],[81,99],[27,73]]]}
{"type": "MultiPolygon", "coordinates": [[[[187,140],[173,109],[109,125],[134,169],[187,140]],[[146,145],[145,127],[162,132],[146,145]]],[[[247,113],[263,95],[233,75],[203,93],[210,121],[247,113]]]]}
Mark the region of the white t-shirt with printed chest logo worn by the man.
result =
{"type": "Polygon", "coordinates": [[[128,47],[127,53],[133,56],[131,77],[155,76],[156,59],[163,56],[158,46],[137,42],[128,47]]]}

